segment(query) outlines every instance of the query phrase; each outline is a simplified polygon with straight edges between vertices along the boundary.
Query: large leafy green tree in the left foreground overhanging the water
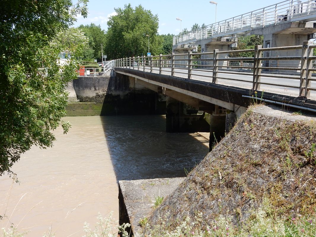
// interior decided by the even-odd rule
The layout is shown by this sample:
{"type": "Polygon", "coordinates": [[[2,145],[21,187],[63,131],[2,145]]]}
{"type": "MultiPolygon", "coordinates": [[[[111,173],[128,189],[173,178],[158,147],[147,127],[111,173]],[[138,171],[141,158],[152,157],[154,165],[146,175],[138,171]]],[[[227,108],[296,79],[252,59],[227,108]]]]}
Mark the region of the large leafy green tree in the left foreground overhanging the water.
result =
{"type": "MultiPolygon", "coordinates": [[[[77,64],[58,64],[60,46],[51,41],[87,15],[87,0],[4,0],[0,9],[0,175],[10,175],[20,154],[32,145],[46,148],[65,115],[65,83],[77,64]]],[[[67,49],[74,58],[79,51],[67,49]]],[[[69,124],[62,123],[64,132],[69,124]]]]}

